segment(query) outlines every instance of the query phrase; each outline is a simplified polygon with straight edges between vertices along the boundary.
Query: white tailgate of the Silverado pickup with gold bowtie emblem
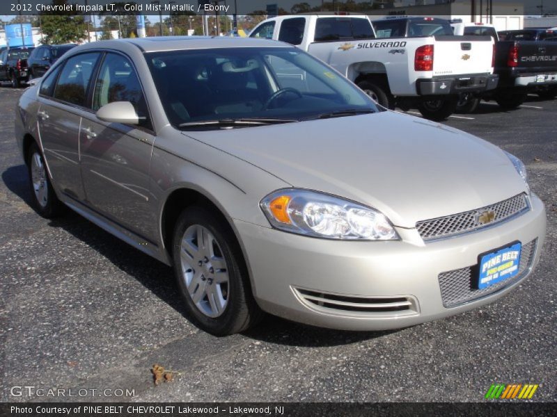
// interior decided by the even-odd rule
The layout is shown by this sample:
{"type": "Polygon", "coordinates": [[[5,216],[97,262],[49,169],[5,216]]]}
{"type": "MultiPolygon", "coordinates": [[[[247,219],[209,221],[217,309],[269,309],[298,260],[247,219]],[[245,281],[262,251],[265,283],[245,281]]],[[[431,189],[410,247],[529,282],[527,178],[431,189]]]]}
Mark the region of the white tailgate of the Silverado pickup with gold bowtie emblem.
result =
{"type": "Polygon", "coordinates": [[[493,40],[489,36],[437,36],[433,76],[492,74],[493,40]]]}

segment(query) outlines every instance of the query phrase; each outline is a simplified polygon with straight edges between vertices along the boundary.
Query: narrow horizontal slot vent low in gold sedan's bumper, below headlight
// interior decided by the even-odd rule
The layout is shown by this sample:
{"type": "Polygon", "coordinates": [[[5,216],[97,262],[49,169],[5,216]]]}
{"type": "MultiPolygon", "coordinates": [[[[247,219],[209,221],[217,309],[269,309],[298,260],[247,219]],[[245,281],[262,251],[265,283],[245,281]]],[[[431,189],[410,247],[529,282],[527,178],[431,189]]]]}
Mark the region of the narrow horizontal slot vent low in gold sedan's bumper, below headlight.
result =
{"type": "Polygon", "coordinates": [[[293,288],[304,304],[314,309],[329,313],[366,313],[376,315],[381,313],[416,313],[418,304],[413,297],[355,297],[353,295],[338,295],[311,291],[304,288],[293,288]]]}

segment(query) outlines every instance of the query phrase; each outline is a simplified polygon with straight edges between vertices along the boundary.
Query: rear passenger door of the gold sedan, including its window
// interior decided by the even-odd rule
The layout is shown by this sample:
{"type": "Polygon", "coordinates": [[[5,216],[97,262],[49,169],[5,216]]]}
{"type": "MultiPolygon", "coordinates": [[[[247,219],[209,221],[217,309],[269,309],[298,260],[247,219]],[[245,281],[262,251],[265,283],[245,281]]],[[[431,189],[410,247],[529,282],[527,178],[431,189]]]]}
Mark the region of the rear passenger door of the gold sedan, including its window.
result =
{"type": "Polygon", "coordinates": [[[90,114],[87,97],[100,52],[74,55],[42,81],[38,126],[49,172],[56,188],[85,199],[79,169],[81,117],[90,114]]]}

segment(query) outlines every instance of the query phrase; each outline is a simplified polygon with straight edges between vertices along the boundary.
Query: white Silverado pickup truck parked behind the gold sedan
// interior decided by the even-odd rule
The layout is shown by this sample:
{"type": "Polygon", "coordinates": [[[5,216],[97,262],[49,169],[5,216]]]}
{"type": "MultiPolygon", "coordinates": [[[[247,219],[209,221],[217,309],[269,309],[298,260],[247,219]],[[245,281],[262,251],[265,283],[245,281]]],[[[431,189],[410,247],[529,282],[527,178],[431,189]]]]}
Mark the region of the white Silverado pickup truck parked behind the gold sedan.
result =
{"type": "Polygon", "coordinates": [[[448,22],[448,33],[430,34],[429,21],[423,23],[411,37],[405,26],[400,37],[392,32],[380,39],[365,15],[290,15],[261,22],[250,36],[308,51],[384,107],[417,107],[427,119],[444,120],[460,93],[496,88],[494,42],[454,36],[448,22]]]}

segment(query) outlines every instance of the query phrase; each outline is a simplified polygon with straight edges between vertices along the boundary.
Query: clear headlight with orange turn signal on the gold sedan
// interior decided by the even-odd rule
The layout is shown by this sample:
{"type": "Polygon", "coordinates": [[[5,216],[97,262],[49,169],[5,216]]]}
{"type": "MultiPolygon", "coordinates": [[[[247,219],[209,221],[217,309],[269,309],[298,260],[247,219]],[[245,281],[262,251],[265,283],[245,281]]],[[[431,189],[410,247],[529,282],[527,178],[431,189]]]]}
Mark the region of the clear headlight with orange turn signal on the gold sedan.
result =
{"type": "Polygon", "coordinates": [[[397,240],[391,222],[379,211],[307,190],[278,190],[261,201],[276,229],[319,238],[397,240]]]}

